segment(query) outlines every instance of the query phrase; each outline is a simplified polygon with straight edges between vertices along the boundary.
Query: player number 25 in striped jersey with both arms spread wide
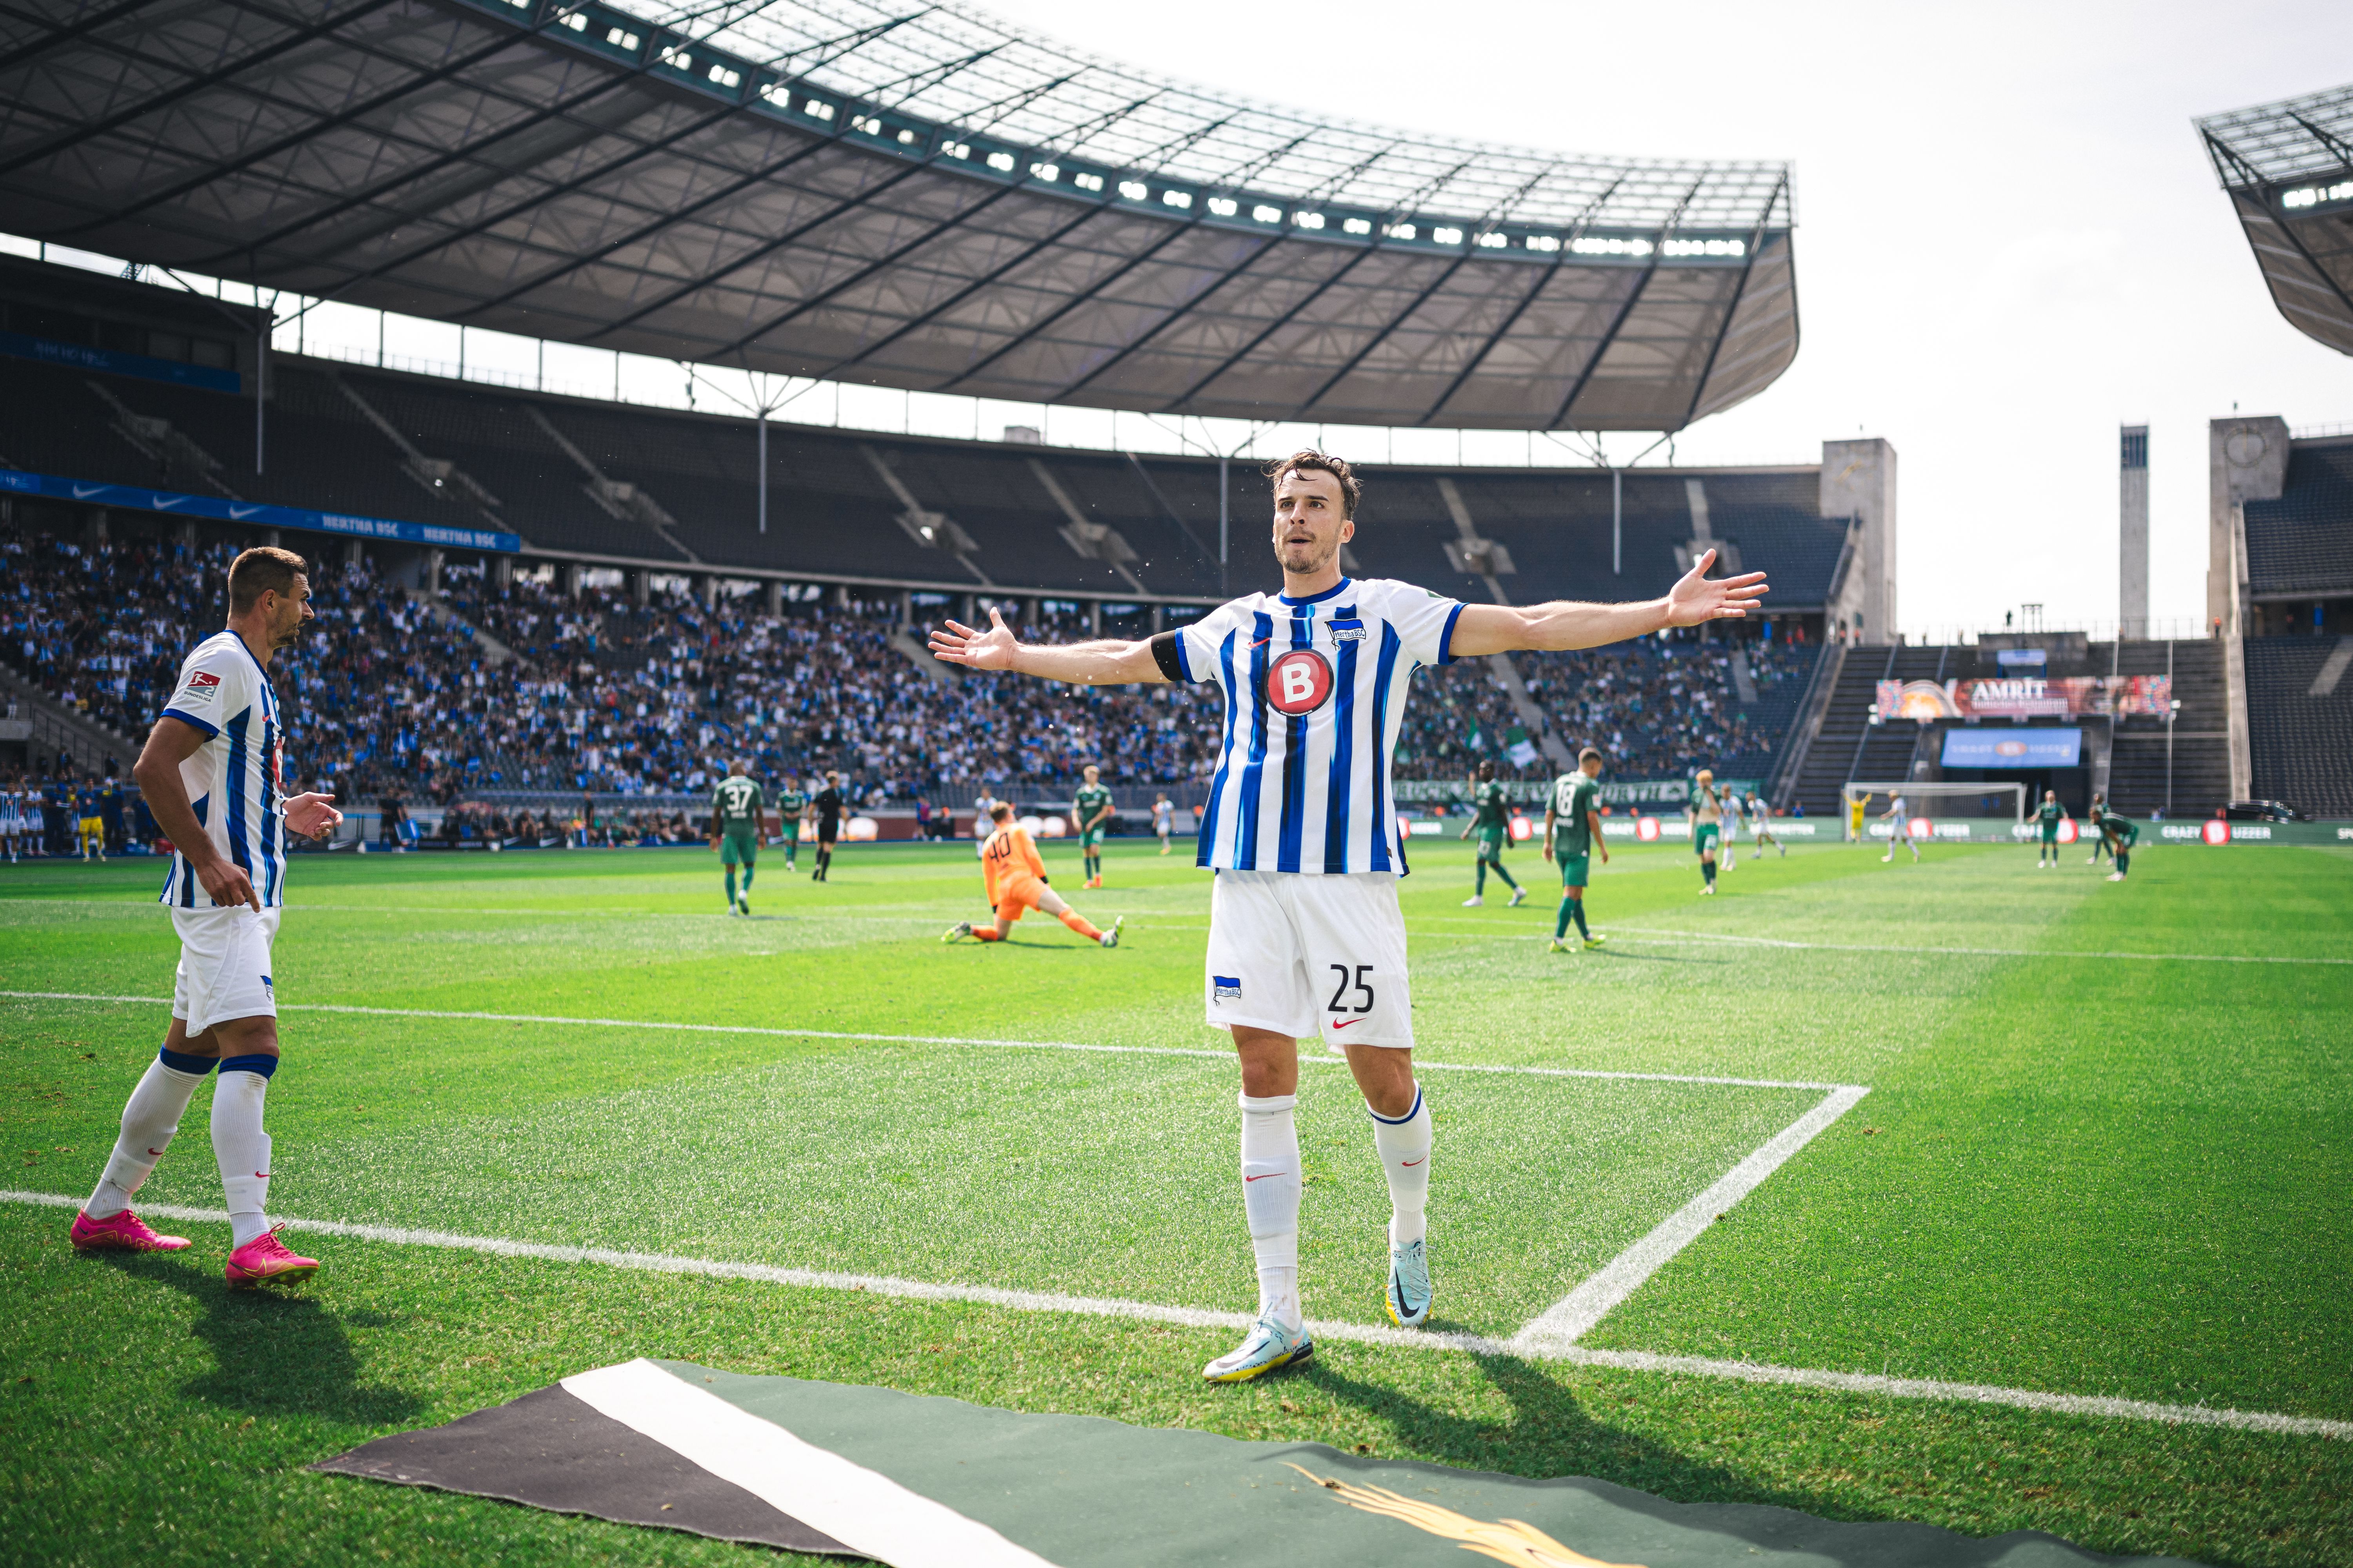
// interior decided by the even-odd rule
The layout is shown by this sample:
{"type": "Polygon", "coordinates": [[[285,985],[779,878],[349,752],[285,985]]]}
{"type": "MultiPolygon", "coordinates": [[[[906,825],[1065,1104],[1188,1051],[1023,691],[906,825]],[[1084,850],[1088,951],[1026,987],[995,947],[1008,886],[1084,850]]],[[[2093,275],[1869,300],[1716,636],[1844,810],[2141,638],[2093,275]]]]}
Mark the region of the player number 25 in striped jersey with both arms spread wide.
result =
{"type": "Polygon", "coordinates": [[[1664,625],[1744,616],[1762,574],[1711,581],[1715,552],[1642,604],[1461,604],[1395,581],[1341,576],[1362,491],[1341,458],[1299,451],[1268,465],[1280,592],[1233,599],[1141,642],[1038,646],[991,611],[986,630],[948,621],[932,651],[972,670],[1087,686],[1217,682],[1226,696],[1198,863],[1214,870],[1202,1004],[1231,1030],[1242,1067],[1242,1213],[1259,1312],[1212,1382],[1242,1382],[1306,1359],[1299,1305],[1299,1037],[1339,1044],[1372,1114],[1388,1178],[1388,1312],[1431,1314],[1426,1208],[1431,1110],[1414,1081],[1412,985],[1391,757],[1421,665],[1511,649],[1591,649],[1664,625]]]}

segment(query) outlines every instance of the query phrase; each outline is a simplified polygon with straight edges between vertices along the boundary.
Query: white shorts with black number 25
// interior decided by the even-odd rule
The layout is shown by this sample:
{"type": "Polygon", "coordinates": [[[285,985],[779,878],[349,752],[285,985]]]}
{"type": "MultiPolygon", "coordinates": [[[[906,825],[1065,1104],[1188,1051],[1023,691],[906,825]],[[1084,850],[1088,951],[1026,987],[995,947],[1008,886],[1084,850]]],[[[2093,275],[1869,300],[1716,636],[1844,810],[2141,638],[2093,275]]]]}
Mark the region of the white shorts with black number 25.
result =
{"type": "Polygon", "coordinates": [[[1412,1048],[1395,872],[1217,872],[1202,1004],[1219,1030],[1412,1048]]]}

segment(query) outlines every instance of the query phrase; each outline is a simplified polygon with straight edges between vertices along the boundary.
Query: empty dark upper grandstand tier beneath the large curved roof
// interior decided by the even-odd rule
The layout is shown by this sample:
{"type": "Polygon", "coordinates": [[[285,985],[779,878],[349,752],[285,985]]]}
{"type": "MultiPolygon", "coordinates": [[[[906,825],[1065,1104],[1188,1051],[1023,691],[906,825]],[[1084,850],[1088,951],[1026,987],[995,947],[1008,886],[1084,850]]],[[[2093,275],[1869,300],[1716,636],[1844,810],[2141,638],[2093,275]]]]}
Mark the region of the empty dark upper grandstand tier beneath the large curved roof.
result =
{"type": "MultiPolygon", "coordinates": [[[[522,538],[525,557],[647,571],[1207,604],[1252,585],[1264,559],[1249,522],[1264,489],[1247,463],[772,423],[762,531],[760,435],[734,414],[299,355],[273,355],[256,411],[249,388],[71,362],[66,350],[127,329],[141,296],[202,306],[56,266],[0,266],[9,320],[16,301],[35,301],[26,320],[38,310],[71,334],[45,341],[61,353],[19,343],[0,357],[0,465],[499,529],[522,538]]],[[[1847,520],[1821,512],[1819,463],[1626,470],[1619,484],[1595,468],[1365,473],[1355,567],[1473,597],[1492,588],[1466,571],[1466,527],[1501,545],[1497,585],[1515,602],[1661,592],[1697,548],[1718,545],[1727,569],[1772,574],[1774,616],[1819,635],[1849,552],[1847,520]]],[[[384,564],[398,571],[393,552],[384,564]]]]}

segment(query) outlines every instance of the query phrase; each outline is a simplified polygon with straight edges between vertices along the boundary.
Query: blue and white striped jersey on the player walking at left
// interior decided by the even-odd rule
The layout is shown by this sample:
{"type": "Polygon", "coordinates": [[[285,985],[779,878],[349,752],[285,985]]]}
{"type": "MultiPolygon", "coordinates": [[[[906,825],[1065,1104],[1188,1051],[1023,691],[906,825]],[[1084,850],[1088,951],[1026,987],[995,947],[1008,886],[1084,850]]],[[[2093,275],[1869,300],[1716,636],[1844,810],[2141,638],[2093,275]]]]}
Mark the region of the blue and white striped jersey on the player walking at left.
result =
{"type": "MultiPolygon", "coordinates": [[[[278,691],[245,639],[214,632],[195,644],[179,665],[179,686],[162,717],[207,736],[179,764],[179,780],[212,846],[252,879],[264,907],[285,903],[285,729],[278,724],[278,691]]],[[[176,849],[162,903],[216,907],[176,849]]]]}

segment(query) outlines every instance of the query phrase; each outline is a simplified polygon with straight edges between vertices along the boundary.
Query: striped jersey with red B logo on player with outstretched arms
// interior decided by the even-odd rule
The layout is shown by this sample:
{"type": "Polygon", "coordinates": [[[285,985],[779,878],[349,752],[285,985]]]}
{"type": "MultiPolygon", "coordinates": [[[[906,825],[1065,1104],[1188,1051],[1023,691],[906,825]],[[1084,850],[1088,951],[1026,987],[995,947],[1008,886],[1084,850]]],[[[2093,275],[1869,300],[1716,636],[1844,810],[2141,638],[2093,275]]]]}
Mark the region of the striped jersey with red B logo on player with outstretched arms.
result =
{"type": "Polygon", "coordinates": [[[1233,872],[1398,872],[1388,762],[1405,689],[1452,663],[1461,602],[1341,578],[1311,599],[1257,592],[1179,628],[1186,679],[1226,691],[1226,736],[1200,820],[1200,865],[1233,872]]]}

